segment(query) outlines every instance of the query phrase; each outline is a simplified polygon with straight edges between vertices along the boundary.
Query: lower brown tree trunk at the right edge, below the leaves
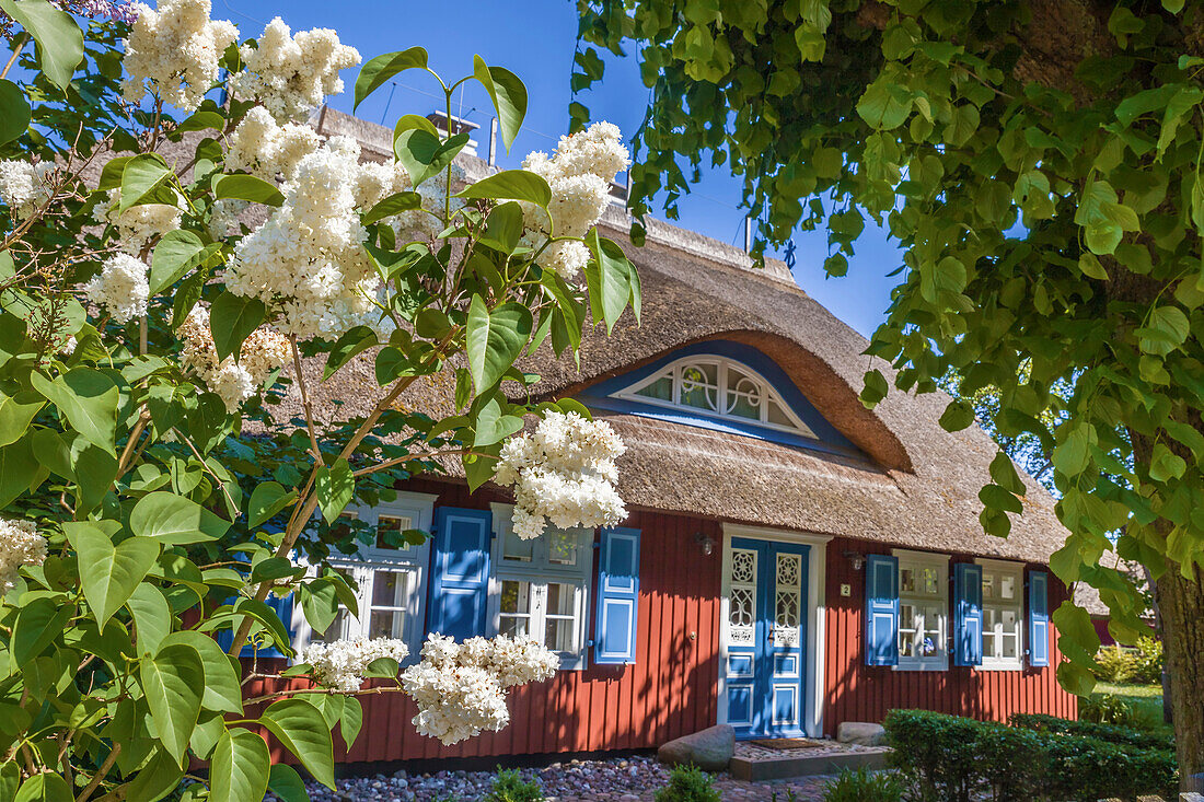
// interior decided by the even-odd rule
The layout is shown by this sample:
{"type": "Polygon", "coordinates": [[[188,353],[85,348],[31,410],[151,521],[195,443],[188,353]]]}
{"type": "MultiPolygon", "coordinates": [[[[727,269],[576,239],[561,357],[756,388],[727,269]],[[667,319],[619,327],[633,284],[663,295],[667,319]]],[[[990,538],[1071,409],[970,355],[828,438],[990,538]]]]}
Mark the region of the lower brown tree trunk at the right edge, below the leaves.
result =
{"type": "Polygon", "coordinates": [[[1171,566],[1153,585],[1162,614],[1163,654],[1175,712],[1180,788],[1204,790],[1204,577],[1171,566]]]}

